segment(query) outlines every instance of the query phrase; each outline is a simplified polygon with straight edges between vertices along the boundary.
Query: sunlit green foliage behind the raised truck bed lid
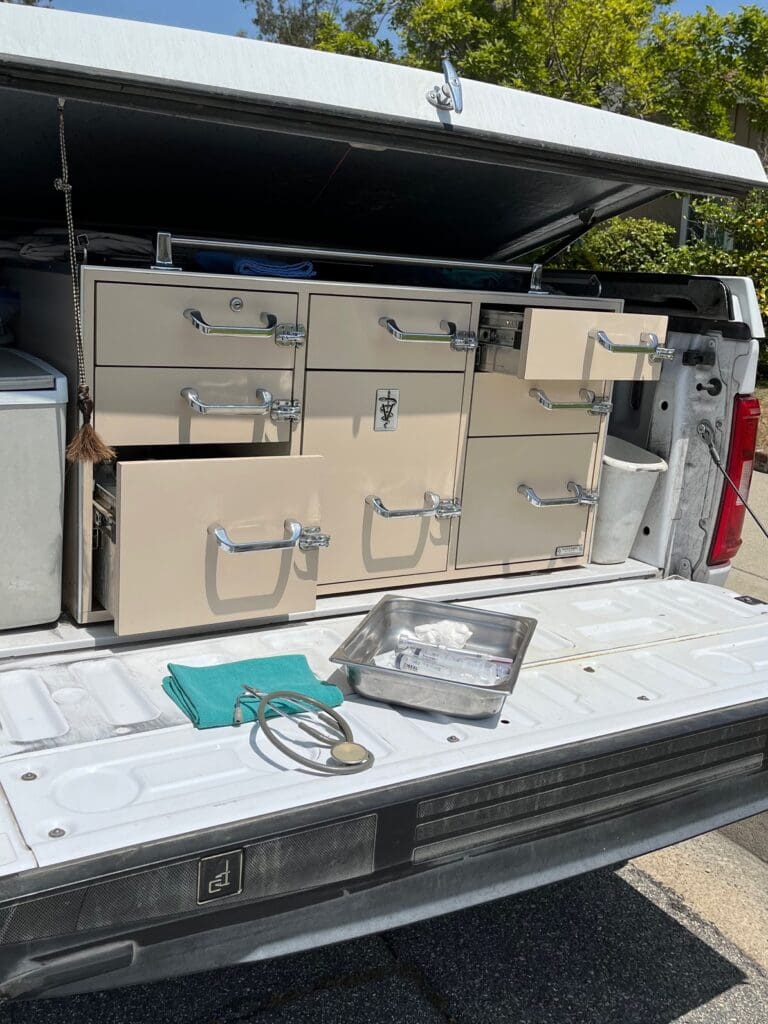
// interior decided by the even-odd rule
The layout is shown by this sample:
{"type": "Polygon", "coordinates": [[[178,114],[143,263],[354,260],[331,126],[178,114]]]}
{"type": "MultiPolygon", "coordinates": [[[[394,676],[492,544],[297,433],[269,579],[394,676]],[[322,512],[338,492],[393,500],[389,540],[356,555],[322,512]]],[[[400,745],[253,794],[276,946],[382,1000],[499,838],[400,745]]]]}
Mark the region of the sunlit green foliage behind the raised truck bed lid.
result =
{"type": "MultiPolygon", "coordinates": [[[[670,0],[243,0],[262,39],[439,68],[721,139],[735,113],[768,140],[768,9],[670,9],[670,0]]],[[[761,157],[768,160],[768,145],[761,157]]],[[[620,219],[593,228],[561,266],[754,279],[768,323],[768,197],[694,202],[695,241],[620,219]]],[[[763,372],[768,375],[764,352],[763,372]]]]}

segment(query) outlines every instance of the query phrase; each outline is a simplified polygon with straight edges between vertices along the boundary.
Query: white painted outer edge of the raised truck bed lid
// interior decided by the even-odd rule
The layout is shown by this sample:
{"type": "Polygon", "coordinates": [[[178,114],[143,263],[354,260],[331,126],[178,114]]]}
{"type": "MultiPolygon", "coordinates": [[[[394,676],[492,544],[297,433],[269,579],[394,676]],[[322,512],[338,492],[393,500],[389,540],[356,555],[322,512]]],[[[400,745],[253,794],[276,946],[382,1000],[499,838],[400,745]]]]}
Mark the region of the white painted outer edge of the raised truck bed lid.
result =
{"type": "Polygon", "coordinates": [[[496,136],[646,167],[763,184],[752,150],[594,108],[463,80],[464,112],[437,111],[426,93],[438,72],[252,39],[118,18],[0,5],[0,67],[71,73],[147,87],[168,84],[221,97],[352,112],[380,124],[400,120],[496,136]]]}

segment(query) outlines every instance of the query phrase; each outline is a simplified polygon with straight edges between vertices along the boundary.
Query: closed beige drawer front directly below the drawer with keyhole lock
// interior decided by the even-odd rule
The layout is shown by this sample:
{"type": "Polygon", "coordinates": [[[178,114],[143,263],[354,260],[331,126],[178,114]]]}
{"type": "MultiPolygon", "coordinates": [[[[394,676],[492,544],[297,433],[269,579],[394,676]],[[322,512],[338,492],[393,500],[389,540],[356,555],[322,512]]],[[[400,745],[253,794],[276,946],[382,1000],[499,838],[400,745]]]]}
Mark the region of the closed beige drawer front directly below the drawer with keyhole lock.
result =
{"type": "Polygon", "coordinates": [[[201,370],[97,367],[96,429],[108,444],[251,444],[289,441],[291,423],[266,414],[264,391],[290,398],[290,370],[201,370]],[[205,404],[245,406],[242,413],[201,413],[182,397],[197,392],[205,404]]]}

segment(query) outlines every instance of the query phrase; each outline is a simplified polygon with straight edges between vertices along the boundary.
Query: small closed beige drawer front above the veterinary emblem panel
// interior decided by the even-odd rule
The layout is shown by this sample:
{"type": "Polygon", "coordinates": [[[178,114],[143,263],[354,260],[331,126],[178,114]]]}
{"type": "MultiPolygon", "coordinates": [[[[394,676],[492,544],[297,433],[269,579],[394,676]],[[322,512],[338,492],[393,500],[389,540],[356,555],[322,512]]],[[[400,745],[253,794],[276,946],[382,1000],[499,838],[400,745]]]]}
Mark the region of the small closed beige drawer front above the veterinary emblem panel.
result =
{"type": "MultiPolygon", "coordinates": [[[[469,330],[468,302],[419,299],[358,299],[312,295],[309,300],[307,367],[326,370],[452,370],[461,372],[467,353],[451,340],[397,341],[379,323],[394,321],[402,332],[445,335],[442,321],[469,330]]],[[[470,353],[472,354],[472,353],[470,353]]]]}

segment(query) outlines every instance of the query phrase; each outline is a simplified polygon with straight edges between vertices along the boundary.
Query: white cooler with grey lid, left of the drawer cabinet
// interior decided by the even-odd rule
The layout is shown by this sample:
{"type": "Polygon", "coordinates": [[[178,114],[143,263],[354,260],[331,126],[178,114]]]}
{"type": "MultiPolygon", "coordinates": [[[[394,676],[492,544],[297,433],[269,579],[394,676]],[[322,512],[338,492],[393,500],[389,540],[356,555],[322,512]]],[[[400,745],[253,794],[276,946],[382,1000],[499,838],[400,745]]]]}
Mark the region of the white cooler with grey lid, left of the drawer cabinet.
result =
{"type": "Polygon", "coordinates": [[[0,348],[0,630],[61,611],[67,379],[0,348]]]}

